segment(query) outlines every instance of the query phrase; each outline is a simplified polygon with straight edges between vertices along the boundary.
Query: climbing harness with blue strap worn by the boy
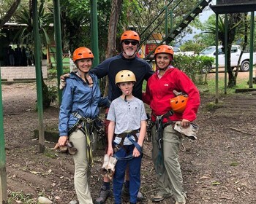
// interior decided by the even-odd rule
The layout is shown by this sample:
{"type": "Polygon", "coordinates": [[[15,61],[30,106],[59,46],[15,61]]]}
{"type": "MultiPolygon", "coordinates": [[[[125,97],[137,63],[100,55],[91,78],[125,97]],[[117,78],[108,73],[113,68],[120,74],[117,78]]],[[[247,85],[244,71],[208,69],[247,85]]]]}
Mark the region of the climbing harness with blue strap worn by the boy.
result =
{"type": "Polygon", "coordinates": [[[113,157],[116,157],[117,160],[132,160],[134,157],[132,156],[132,154],[129,154],[127,157],[118,157],[116,156],[116,152],[119,151],[119,149],[124,148],[125,151],[127,152],[127,148],[126,146],[124,146],[124,139],[127,137],[129,139],[129,141],[132,142],[132,144],[138,149],[138,151],[141,154],[141,157],[143,156],[143,149],[142,147],[138,144],[138,136],[136,135],[136,133],[139,133],[140,129],[138,130],[133,130],[130,133],[121,133],[116,135],[116,137],[121,138],[121,141],[119,144],[117,144],[116,146],[113,147],[113,151],[114,151],[114,155],[113,157]],[[134,136],[135,141],[132,139],[132,136],[134,136]]]}

